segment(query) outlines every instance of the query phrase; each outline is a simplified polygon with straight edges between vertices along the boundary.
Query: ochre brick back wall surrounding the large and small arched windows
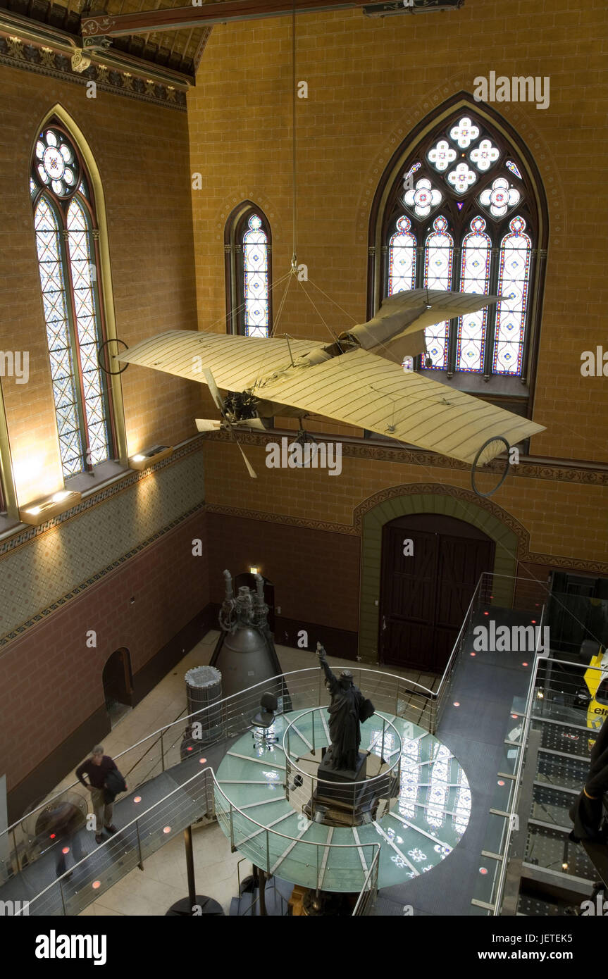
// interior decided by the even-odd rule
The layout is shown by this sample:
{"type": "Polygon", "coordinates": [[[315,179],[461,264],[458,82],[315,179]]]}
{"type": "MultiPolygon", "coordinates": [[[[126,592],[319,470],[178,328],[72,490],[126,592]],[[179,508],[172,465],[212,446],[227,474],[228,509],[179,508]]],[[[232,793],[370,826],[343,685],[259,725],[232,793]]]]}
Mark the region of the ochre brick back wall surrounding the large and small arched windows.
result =
{"type": "MultiPolygon", "coordinates": [[[[272,224],[273,274],[292,255],[291,21],[213,29],[189,94],[191,168],[201,329],[223,329],[223,228],[230,210],[251,199],[272,224]]],[[[598,0],[516,3],[467,0],[458,11],[370,20],[359,12],[298,18],[298,258],[316,285],[343,307],[310,294],[334,330],[365,319],[367,228],[378,181],[398,144],[454,92],[473,91],[477,75],[548,75],[550,105],[500,103],[533,154],[545,187],[550,241],[540,335],[535,418],[546,432],[538,456],[608,462],[605,378],[583,378],[581,353],[608,347],[603,309],[605,203],[593,163],[605,134],[606,23],[598,0]],[[603,40],[602,40],[603,39],[603,40]],[[594,202],[592,205],[590,202],[594,202]]],[[[275,296],[282,296],[280,286],[275,296]]],[[[275,301],[275,312],[278,302],[275,301]]],[[[328,338],[302,290],[292,285],[277,332],[328,338]]],[[[315,426],[316,427],[316,426],[315,426]]],[[[340,431],[334,427],[335,431],[340,431]]],[[[353,508],[380,489],[411,482],[470,486],[466,473],[345,460],[341,477],[263,470],[244,477],[233,446],[206,448],[208,501],[294,518],[350,524],[353,508]]],[[[480,479],[482,489],[490,480],[480,479]]],[[[493,499],[546,555],[606,560],[605,491],[570,481],[510,477],[493,499]]]]}

